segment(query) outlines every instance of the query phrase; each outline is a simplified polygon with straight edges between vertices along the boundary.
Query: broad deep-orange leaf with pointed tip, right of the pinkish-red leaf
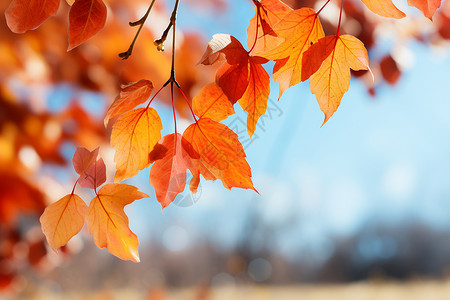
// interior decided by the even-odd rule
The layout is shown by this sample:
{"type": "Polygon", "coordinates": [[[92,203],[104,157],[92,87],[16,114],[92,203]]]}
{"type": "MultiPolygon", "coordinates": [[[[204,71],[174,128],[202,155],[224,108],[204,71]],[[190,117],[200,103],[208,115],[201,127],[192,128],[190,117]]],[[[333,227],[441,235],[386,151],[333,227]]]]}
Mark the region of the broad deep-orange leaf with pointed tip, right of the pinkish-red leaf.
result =
{"type": "Polygon", "coordinates": [[[199,119],[185,130],[183,137],[200,156],[190,168],[194,176],[191,190],[196,190],[200,174],[207,180],[220,179],[227,189],[255,190],[244,148],[237,134],[226,125],[207,118],[199,119]]]}

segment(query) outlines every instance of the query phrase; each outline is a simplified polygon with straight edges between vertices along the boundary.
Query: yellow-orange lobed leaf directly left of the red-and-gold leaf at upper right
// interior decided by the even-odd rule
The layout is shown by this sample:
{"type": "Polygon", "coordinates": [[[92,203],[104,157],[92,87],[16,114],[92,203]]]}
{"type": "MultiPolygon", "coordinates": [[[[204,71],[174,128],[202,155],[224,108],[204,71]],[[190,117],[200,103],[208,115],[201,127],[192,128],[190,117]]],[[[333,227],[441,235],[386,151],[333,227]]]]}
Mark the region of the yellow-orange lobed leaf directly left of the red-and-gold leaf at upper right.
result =
{"type": "Polygon", "coordinates": [[[300,83],[303,54],[323,37],[324,33],[319,18],[310,8],[290,12],[273,27],[273,30],[285,41],[259,55],[276,61],[273,80],[280,85],[279,97],[281,97],[289,87],[300,83]]]}

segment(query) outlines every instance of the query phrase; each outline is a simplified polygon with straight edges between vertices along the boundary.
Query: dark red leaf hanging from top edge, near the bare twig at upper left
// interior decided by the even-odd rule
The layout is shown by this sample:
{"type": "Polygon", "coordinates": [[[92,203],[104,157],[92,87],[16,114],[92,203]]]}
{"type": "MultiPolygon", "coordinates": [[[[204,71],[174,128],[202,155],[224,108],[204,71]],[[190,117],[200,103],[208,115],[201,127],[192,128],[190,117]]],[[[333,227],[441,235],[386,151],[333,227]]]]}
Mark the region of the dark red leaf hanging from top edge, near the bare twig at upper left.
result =
{"type": "Polygon", "coordinates": [[[69,12],[69,49],[84,43],[106,22],[106,5],[102,0],[75,0],[69,12]]]}

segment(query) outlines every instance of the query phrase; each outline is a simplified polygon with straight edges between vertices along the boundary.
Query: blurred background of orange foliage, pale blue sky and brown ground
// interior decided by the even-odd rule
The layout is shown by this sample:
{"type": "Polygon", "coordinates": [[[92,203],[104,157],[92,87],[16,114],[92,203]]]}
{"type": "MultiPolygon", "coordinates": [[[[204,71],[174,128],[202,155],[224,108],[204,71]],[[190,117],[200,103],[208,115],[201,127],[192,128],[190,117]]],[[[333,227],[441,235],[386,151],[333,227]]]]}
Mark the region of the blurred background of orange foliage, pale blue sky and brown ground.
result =
{"type": "MultiPolygon", "coordinates": [[[[395,2],[408,14],[403,20],[344,3],[343,31],[366,45],[375,82],[353,73],[325,126],[308,83],[280,100],[272,83],[253,140],[242,110],[225,121],[261,196],[202,181],[197,194],[186,190],[162,212],[143,170],[125,181],[150,195],[126,207],[141,263],[96,248],[86,228],[54,253],[38,219],[71,191],[75,146],[100,146],[111,182],[114,149],[103,117],[120,84],[147,78],[158,87],[169,77],[170,42],[164,54],[153,40],[171,1],[156,2],[132,57],[117,56],[147,2],[106,1],[105,29],[70,52],[67,4],[23,35],[1,14],[0,299],[450,298],[448,1],[433,22],[406,1],[395,2]]],[[[331,2],[320,15],[327,34],[336,32],[338,7],[331,2]]],[[[207,41],[230,33],[245,45],[253,15],[251,1],[181,2],[177,79],[191,98],[214,80],[214,68],[196,65],[207,41]]],[[[173,132],[167,92],[155,104],[163,133],[173,132]]],[[[178,126],[187,127],[184,101],[177,110],[178,126]]]]}

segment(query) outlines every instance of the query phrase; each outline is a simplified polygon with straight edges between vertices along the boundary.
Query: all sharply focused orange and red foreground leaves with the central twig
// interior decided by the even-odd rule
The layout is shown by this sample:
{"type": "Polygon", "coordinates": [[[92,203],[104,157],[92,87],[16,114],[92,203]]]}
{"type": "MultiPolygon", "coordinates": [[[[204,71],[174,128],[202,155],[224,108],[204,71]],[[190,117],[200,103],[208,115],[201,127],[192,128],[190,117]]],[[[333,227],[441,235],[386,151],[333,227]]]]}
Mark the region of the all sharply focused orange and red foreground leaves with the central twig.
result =
{"type": "MultiPolygon", "coordinates": [[[[247,131],[250,137],[253,135],[270,93],[270,76],[263,64],[275,62],[272,78],[279,83],[279,97],[289,87],[309,79],[311,92],[325,114],[324,124],[349,88],[350,69],[370,71],[364,44],[354,36],[341,35],[342,6],[335,34],[325,36],[319,15],[329,2],[316,12],[311,8],[293,10],[279,0],[253,0],[256,13],[247,30],[249,50],[231,35],[214,35],[200,62],[219,65],[216,78],[192,99],[192,104],[174,75],[150,100],[153,84],[149,80],[122,88],[105,118],[105,125],[113,121],[111,145],[116,148],[116,183],[106,184],[97,192],[106,181],[104,163],[98,159],[98,150],[79,148],[73,159],[80,175],[75,186],[93,189],[96,197],[87,207],[73,190],[46,209],[41,223],[51,247],[57,249],[66,244],[86,221],[98,247],[106,247],[122,259],[138,261],[137,237],[128,228],[123,207],[147,195],[119,182],[150,165],[149,183],[163,208],[184,191],[187,170],[193,175],[190,190],[194,193],[200,175],[206,180],[220,179],[228,189],[256,191],[237,135],[220,122],[234,113],[233,105],[238,103],[248,114],[247,131]],[[161,119],[150,105],[169,83],[175,132],[161,137],[161,119]],[[194,119],[183,134],[176,127],[174,85],[194,119]],[[145,107],[135,108],[146,102],[145,107]]],[[[405,16],[390,0],[362,2],[384,17],[405,16]]],[[[408,3],[430,19],[440,6],[439,0],[408,3]]],[[[36,1],[29,6],[27,1],[13,0],[5,14],[11,30],[21,33],[39,26],[56,13],[58,6],[59,1],[36,1]]],[[[69,49],[97,33],[105,20],[102,0],[75,0],[69,12],[69,49]]],[[[175,19],[171,22],[174,25],[175,19]]]]}

